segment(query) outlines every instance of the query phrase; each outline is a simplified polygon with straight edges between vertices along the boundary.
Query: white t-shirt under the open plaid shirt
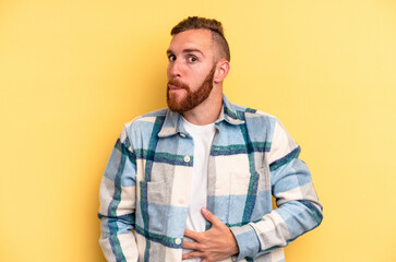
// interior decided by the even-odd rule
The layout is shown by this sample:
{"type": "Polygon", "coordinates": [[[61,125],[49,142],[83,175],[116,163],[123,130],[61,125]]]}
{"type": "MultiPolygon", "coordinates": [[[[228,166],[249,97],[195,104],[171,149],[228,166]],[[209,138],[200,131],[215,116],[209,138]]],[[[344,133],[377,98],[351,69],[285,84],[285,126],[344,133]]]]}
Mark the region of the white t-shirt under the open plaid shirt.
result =
{"type": "MultiPolygon", "coordinates": [[[[214,123],[205,126],[192,124],[182,118],[183,128],[194,140],[194,165],[192,171],[192,184],[190,192],[190,205],[187,215],[185,228],[194,231],[205,231],[205,218],[201,209],[206,207],[207,196],[207,168],[213,138],[216,133],[214,123]]],[[[184,241],[192,241],[184,237],[184,241]]],[[[183,253],[191,250],[183,249],[183,253]]],[[[201,259],[183,260],[199,262],[201,259]]]]}

